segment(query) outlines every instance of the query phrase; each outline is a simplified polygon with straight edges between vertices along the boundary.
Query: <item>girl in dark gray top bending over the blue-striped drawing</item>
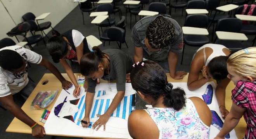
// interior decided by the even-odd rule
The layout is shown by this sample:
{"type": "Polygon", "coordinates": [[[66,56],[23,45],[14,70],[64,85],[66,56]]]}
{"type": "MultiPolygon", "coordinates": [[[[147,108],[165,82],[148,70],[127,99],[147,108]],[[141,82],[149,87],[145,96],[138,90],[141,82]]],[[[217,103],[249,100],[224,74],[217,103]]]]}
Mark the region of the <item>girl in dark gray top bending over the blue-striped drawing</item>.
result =
{"type": "MultiPolygon", "coordinates": [[[[83,118],[88,124],[82,123],[82,125],[83,127],[88,127],[90,124],[89,114],[92,109],[96,79],[102,78],[103,80],[107,80],[107,82],[116,79],[116,96],[105,114],[99,115],[99,119],[92,125],[92,128],[96,128],[96,130],[98,130],[101,125],[104,125],[105,130],[106,122],[125,96],[126,74],[130,73],[133,62],[130,56],[120,49],[106,49],[101,51],[99,47],[93,47],[92,50],[93,52],[83,55],[80,61],[81,74],[88,78],[85,97],[85,117],[83,118]]],[[[115,92],[116,90],[111,89],[109,86],[109,91],[115,92]]],[[[74,94],[74,96],[76,96],[76,94],[74,94]]]]}

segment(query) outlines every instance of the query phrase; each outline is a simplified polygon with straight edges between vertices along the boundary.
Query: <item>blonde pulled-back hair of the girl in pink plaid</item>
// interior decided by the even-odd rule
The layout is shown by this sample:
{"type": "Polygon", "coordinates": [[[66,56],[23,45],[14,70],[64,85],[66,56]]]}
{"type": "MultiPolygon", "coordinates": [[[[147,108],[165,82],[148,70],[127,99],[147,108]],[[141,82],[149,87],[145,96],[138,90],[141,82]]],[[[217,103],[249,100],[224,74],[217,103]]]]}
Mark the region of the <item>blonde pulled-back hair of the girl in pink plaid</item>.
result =
{"type": "Polygon", "coordinates": [[[256,47],[248,47],[232,54],[227,63],[241,76],[256,78],[256,47]]]}

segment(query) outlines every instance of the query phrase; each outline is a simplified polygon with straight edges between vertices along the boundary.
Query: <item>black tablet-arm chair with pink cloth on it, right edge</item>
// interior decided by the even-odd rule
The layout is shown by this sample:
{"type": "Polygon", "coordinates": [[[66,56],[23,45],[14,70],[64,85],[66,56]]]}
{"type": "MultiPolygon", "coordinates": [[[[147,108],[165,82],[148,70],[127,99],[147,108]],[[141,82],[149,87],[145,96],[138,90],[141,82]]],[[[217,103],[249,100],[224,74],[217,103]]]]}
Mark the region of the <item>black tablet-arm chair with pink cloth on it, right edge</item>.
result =
{"type": "Polygon", "coordinates": [[[256,21],[256,9],[254,9],[253,13],[250,16],[250,15],[247,15],[250,8],[251,8],[251,5],[248,5],[246,12],[243,13],[244,5],[240,5],[236,9],[234,17],[243,21],[240,33],[244,33],[246,35],[255,35],[255,37],[253,39],[253,45],[252,45],[252,46],[254,46],[254,43],[256,40],[256,26],[255,26],[255,24],[253,25],[252,22],[256,21]],[[243,14],[243,15],[240,15],[240,14],[243,14]]]}

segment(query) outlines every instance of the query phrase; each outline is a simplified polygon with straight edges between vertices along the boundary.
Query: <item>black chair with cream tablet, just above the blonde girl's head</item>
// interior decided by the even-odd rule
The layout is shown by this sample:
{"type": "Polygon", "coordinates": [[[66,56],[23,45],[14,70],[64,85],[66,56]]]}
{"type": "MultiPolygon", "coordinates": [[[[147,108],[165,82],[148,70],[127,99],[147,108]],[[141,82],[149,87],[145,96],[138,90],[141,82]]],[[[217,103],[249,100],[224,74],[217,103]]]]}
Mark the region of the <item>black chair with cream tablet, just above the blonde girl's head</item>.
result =
{"type": "Polygon", "coordinates": [[[246,41],[248,38],[244,34],[239,33],[241,28],[242,20],[240,19],[220,19],[216,26],[216,39],[214,43],[222,44],[234,51],[244,49],[245,46],[240,41],[246,41]]]}

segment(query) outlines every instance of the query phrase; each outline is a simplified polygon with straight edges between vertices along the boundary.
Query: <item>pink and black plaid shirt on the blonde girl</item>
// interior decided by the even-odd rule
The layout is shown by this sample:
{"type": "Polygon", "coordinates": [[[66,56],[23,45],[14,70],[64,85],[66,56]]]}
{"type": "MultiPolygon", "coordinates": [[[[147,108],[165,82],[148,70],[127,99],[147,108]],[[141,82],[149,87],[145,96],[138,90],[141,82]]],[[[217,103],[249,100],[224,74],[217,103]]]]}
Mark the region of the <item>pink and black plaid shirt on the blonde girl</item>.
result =
{"type": "Polygon", "coordinates": [[[256,81],[238,81],[232,90],[232,101],[241,108],[246,108],[244,119],[247,123],[244,139],[256,138],[256,81]]]}

